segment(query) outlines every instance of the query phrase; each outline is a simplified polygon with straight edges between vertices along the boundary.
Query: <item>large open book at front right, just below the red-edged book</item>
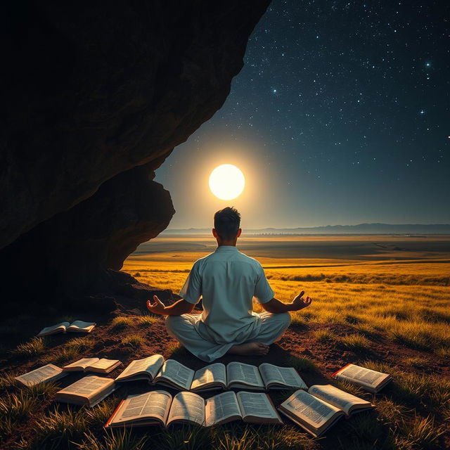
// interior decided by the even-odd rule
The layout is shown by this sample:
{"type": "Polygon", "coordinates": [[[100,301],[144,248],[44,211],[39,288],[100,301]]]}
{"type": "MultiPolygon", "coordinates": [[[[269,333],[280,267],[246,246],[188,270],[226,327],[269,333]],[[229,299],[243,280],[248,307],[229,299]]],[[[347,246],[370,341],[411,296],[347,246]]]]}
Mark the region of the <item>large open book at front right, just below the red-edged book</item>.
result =
{"type": "Polygon", "coordinates": [[[279,406],[279,411],[318,437],[342,416],[373,408],[370,401],[355,397],[332,385],[314,385],[298,390],[279,406]]]}

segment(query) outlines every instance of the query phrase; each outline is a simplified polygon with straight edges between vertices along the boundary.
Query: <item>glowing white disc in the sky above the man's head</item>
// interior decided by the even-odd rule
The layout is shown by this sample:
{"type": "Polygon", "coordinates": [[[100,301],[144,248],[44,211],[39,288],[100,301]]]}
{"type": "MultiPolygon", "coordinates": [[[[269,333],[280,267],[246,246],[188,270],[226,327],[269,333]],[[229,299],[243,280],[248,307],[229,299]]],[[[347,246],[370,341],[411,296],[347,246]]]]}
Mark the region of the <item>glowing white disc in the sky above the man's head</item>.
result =
{"type": "Polygon", "coordinates": [[[211,192],[221,200],[233,200],[244,190],[245,178],[232,164],[217,166],[210,174],[211,192]]]}

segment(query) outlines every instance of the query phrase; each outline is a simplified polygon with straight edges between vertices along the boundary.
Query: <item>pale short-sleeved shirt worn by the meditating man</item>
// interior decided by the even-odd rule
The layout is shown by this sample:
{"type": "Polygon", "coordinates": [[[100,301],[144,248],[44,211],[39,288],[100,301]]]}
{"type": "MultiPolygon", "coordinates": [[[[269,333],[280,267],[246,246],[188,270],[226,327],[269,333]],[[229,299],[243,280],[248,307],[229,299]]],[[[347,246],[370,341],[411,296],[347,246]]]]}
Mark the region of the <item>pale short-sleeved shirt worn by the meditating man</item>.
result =
{"type": "Polygon", "coordinates": [[[259,327],[252,299],[269,302],[274,291],[256,259],[236,247],[221,245],[195,262],[179,295],[193,304],[203,297],[198,333],[207,340],[228,344],[245,342],[245,336],[259,327]]]}

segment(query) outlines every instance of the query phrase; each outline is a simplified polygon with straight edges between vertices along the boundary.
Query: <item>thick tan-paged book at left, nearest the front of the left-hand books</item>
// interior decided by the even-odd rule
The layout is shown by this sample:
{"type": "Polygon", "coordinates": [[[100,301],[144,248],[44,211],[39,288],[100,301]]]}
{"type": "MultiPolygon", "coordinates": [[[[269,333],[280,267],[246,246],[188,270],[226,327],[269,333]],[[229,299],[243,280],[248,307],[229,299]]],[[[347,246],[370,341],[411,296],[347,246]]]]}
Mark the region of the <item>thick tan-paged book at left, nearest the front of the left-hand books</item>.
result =
{"type": "Polygon", "coordinates": [[[95,406],[117,389],[113,378],[87,375],[72,385],[56,392],[56,401],[75,405],[95,406]]]}

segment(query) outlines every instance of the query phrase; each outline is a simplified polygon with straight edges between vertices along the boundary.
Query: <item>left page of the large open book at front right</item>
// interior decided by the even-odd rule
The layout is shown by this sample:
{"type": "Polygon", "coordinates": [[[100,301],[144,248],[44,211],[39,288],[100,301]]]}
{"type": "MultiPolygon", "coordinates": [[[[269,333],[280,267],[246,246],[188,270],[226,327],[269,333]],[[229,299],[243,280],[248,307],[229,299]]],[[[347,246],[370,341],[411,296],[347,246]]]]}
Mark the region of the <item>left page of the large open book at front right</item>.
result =
{"type": "Polygon", "coordinates": [[[295,416],[314,425],[315,428],[321,427],[337,411],[340,411],[335,406],[326,404],[324,401],[316,399],[316,397],[303,390],[298,390],[292,394],[281,405],[295,416]]]}

